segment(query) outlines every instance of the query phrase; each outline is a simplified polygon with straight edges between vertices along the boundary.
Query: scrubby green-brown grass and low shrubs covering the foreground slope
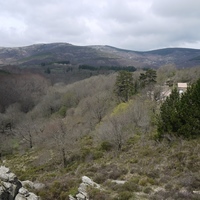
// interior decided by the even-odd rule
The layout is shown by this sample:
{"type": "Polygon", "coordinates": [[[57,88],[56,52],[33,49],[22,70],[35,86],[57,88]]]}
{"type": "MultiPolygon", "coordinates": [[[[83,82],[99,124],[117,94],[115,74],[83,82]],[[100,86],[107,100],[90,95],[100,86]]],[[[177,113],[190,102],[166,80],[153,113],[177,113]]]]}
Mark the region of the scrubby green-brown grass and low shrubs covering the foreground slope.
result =
{"type": "Polygon", "coordinates": [[[43,199],[65,199],[67,195],[76,193],[83,175],[105,189],[104,192],[90,191],[96,199],[159,199],[162,195],[171,195],[172,199],[199,197],[192,191],[199,191],[200,185],[200,139],[188,141],[177,138],[171,143],[156,143],[148,136],[146,139],[137,136],[137,140],[127,143],[126,150],[122,152],[105,151],[95,147],[92,140],[91,136],[82,138],[82,159],[75,156],[63,170],[59,163],[55,164],[58,161],[38,165],[36,160],[41,152],[34,150],[23,156],[16,154],[10,157],[6,165],[22,180],[46,183],[51,198],[39,191],[43,199]],[[63,186],[66,178],[69,184],[63,186]],[[126,183],[118,185],[112,180],[125,180],[126,183]],[[187,195],[181,193],[183,188],[187,195]]]}

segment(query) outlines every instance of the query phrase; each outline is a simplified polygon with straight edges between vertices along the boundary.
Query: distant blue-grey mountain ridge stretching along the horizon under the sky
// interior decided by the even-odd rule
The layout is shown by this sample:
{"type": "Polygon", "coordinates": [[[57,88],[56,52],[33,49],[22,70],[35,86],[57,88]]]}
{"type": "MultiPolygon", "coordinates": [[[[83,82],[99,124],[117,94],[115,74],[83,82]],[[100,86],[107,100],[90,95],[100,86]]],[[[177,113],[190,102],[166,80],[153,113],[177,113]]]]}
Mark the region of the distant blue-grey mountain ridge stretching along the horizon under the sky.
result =
{"type": "Polygon", "coordinates": [[[200,49],[166,48],[132,51],[112,46],[75,46],[68,43],[34,44],[0,48],[0,65],[31,67],[41,63],[70,62],[73,65],[135,66],[158,68],[175,64],[177,68],[200,64],[200,49]]]}

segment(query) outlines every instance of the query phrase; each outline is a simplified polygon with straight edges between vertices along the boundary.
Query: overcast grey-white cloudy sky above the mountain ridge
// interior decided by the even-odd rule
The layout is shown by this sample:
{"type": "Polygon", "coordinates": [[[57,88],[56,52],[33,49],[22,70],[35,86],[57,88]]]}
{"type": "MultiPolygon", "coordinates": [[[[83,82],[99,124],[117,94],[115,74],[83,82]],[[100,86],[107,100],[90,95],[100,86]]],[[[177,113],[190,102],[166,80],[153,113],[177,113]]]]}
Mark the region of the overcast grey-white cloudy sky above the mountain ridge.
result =
{"type": "Polygon", "coordinates": [[[0,0],[0,47],[200,49],[200,0],[0,0]]]}

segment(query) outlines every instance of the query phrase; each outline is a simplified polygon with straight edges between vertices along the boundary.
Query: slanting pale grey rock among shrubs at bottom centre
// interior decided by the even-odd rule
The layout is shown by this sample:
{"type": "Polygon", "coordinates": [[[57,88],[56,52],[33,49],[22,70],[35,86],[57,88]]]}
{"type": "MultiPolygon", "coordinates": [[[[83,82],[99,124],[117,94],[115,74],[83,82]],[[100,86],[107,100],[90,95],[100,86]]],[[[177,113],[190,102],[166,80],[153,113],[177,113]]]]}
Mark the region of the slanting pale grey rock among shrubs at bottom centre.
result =
{"type": "Polygon", "coordinates": [[[92,181],[89,177],[83,176],[82,183],[79,185],[78,194],[75,197],[69,195],[69,200],[89,200],[87,188],[94,187],[100,189],[100,185],[92,181]]]}

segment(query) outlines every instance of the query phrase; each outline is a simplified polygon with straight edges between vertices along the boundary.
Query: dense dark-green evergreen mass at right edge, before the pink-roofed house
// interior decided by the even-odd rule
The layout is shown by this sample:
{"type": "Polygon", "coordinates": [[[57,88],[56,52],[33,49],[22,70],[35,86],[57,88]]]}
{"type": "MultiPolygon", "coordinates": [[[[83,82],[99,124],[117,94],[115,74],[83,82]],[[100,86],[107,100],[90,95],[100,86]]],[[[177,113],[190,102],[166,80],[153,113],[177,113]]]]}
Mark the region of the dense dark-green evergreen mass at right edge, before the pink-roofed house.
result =
{"type": "Polygon", "coordinates": [[[162,104],[158,135],[166,133],[185,138],[200,136],[200,79],[184,94],[174,89],[162,104]]]}

